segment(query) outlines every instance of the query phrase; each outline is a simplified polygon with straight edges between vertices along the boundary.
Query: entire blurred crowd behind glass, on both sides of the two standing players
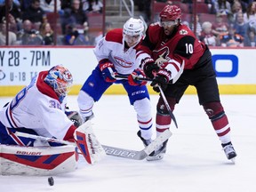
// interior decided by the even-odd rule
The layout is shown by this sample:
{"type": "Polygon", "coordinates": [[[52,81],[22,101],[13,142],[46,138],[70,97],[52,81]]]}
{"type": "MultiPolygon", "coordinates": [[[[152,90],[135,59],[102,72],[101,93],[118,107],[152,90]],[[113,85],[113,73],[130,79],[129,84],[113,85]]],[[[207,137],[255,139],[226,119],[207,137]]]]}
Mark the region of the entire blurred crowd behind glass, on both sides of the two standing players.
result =
{"type": "MultiPolygon", "coordinates": [[[[256,0],[196,1],[204,5],[204,13],[197,9],[196,17],[192,14],[193,0],[156,2],[182,6],[182,23],[196,29],[196,36],[209,46],[255,46],[256,0]],[[207,17],[214,20],[207,20],[207,17]]],[[[145,12],[147,23],[152,21],[150,2],[153,1],[134,0],[140,11],[145,12]]],[[[102,14],[102,7],[100,0],[0,0],[0,45],[6,44],[7,33],[10,45],[95,45],[102,31],[92,36],[88,18],[92,13],[102,14]]],[[[111,28],[112,24],[106,23],[106,31],[111,28]]]]}

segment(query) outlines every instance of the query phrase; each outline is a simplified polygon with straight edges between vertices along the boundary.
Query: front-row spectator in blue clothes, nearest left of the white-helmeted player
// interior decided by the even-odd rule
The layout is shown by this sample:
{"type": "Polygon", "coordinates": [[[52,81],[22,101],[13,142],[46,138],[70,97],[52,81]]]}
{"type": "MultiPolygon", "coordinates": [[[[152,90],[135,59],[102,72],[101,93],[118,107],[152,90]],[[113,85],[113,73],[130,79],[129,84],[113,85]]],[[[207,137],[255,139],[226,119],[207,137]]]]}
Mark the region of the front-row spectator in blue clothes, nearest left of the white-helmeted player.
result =
{"type": "Polygon", "coordinates": [[[89,45],[89,38],[85,38],[83,31],[76,28],[76,25],[67,26],[67,34],[64,36],[66,45],[89,45]]]}

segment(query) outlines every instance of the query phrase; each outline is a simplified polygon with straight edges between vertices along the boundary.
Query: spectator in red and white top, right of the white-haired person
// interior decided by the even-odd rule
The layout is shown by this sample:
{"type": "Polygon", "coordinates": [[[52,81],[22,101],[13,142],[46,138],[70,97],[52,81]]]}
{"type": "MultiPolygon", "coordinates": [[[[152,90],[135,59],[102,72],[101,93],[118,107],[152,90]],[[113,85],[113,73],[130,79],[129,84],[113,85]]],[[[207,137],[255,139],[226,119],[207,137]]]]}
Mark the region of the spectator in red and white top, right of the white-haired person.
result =
{"type": "Polygon", "coordinates": [[[214,36],[228,34],[228,23],[223,20],[224,15],[217,13],[216,21],[212,24],[212,33],[214,36]]]}

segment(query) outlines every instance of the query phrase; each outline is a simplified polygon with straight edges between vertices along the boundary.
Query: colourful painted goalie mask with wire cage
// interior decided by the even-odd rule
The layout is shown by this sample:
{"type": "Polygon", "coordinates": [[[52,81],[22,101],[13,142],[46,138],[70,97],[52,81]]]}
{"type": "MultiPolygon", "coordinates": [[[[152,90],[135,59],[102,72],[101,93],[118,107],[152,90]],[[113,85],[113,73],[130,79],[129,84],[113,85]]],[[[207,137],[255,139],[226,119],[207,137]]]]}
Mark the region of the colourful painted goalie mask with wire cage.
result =
{"type": "Polygon", "coordinates": [[[62,101],[70,91],[73,84],[73,77],[68,71],[68,68],[58,65],[48,71],[47,76],[44,78],[44,82],[52,87],[60,101],[62,101]]]}

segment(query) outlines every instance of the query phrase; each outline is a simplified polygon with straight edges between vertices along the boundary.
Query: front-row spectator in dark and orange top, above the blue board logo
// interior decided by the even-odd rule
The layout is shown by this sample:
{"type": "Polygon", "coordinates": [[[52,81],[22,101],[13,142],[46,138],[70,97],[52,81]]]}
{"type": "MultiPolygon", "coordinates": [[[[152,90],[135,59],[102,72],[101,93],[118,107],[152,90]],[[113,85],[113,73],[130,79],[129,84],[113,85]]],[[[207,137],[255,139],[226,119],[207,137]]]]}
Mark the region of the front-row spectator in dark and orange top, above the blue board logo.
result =
{"type": "Polygon", "coordinates": [[[228,34],[220,35],[220,45],[222,47],[244,47],[244,37],[236,34],[236,29],[230,25],[228,34]]]}

